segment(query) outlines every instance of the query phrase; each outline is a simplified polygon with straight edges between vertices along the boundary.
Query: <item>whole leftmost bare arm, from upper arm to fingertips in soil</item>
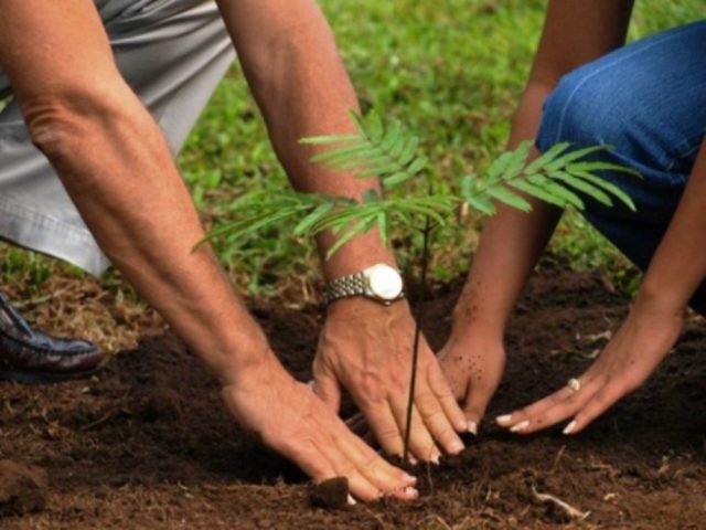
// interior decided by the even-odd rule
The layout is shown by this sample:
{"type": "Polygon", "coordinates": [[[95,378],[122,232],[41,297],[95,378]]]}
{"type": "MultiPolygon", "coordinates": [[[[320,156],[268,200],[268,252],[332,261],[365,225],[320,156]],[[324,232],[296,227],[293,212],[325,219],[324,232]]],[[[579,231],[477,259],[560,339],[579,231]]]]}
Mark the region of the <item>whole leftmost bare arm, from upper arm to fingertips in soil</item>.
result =
{"type": "Polygon", "coordinates": [[[414,496],[393,468],[276,360],[232,292],[149,113],[116,70],[92,0],[7,0],[0,64],[36,146],[103,250],[223,383],[231,412],[317,479],[414,496]]]}

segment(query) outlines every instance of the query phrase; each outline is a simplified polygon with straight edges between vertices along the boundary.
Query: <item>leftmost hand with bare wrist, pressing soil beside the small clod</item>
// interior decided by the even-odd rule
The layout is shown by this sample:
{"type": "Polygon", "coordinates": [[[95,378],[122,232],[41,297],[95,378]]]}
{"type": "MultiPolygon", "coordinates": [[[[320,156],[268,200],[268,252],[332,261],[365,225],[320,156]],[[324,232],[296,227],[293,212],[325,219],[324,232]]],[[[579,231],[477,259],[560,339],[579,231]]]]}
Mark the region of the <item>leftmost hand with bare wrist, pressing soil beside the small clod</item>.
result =
{"type": "Polygon", "coordinates": [[[314,395],[274,359],[243,373],[222,390],[239,424],[317,481],[349,478],[351,494],[362,500],[383,496],[415,499],[416,479],[398,469],[355,436],[314,395]]]}

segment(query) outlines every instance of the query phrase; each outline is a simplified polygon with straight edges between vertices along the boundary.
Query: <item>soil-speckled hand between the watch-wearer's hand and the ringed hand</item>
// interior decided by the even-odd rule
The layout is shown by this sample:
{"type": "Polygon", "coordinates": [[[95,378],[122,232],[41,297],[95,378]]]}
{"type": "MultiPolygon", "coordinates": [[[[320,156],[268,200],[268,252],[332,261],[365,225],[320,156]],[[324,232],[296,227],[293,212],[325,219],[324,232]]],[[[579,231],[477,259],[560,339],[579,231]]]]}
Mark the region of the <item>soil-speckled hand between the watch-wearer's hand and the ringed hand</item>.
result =
{"type": "Polygon", "coordinates": [[[467,339],[452,335],[439,352],[439,362],[453,395],[463,406],[468,431],[478,434],[478,425],[505,369],[502,341],[481,335],[467,339]]]}

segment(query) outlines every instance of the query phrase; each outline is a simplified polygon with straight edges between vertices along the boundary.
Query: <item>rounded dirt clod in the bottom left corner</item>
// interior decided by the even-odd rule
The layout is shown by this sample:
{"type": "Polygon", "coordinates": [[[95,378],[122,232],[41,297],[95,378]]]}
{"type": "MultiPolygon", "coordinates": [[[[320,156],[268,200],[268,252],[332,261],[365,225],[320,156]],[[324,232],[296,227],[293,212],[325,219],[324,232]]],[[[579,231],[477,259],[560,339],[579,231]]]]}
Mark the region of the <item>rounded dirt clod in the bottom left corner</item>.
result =
{"type": "Polygon", "coordinates": [[[47,487],[44,469],[0,460],[0,517],[43,510],[47,487]]]}

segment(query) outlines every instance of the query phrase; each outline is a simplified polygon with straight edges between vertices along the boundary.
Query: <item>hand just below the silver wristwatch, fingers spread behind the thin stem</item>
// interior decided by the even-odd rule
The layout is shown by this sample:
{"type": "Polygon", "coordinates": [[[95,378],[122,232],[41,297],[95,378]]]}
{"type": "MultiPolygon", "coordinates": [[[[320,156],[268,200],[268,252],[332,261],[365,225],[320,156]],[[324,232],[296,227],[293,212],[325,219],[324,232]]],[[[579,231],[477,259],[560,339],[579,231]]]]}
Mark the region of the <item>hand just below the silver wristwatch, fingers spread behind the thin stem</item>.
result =
{"type": "MultiPolygon", "coordinates": [[[[313,363],[314,391],[338,411],[347,389],[385,452],[402,455],[411,374],[415,322],[405,300],[389,307],[361,297],[331,304],[313,363]]],[[[438,462],[463,449],[468,424],[426,340],[419,364],[410,435],[411,454],[438,462]]]]}

